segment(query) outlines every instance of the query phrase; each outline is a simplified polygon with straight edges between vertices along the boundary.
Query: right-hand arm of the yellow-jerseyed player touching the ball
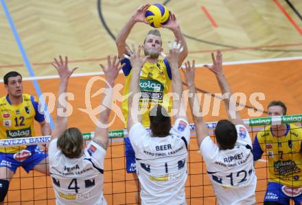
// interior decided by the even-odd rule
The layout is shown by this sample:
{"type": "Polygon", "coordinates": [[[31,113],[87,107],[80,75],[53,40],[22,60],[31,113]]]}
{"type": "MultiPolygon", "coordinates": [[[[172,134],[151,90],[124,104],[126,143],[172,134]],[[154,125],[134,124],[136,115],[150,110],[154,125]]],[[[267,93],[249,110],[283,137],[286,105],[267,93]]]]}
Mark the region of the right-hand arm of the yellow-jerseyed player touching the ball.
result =
{"type": "Polygon", "coordinates": [[[170,12],[169,21],[165,25],[163,25],[163,27],[170,29],[173,32],[176,41],[180,42],[183,46],[183,51],[180,53],[178,59],[178,67],[180,67],[181,64],[183,64],[185,58],[187,58],[187,43],[185,41],[185,38],[183,37],[183,34],[181,33],[181,27],[179,27],[178,22],[176,21],[176,16],[172,14],[172,12],[170,12]]]}

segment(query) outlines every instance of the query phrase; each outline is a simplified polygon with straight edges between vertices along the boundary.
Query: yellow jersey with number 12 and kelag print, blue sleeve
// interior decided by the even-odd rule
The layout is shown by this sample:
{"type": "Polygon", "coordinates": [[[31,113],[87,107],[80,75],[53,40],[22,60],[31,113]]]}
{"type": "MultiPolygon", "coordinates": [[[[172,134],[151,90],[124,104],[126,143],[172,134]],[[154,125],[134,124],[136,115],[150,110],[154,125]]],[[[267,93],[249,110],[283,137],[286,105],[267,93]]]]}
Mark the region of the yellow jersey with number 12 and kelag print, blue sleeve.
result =
{"type": "MultiPolygon", "coordinates": [[[[22,103],[17,105],[10,103],[8,95],[0,98],[0,139],[35,136],[34,119],[45,120],[38,112],[38,100],[28,94],[22,97],[22,103]]],[[[0,152],[16,153],[25,147],[0,147],[0,152]]]]}

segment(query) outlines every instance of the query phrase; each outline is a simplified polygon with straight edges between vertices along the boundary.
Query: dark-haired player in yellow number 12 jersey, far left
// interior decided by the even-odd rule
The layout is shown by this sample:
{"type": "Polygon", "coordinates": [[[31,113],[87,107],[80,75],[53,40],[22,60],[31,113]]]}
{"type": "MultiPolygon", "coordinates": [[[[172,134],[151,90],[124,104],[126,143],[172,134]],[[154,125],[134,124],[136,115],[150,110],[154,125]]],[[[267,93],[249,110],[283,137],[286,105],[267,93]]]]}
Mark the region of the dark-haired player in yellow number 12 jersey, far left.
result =
{"type": "MultiPolygon", "coordinates": [[[[8,95],[0,99],[0,139],[35,136],[34,120],[40,123],[43,135],[50,135],[49,123],[45,122],[44,114],[38,112],[38,100],[23,94],[22,76],[12,71],[3,81],[8,95]]],[[[47,173],[47,162],[47,154],[38,145],[0,147],[0,204],[18,167],[27,172],[34,169],[47,173]]]]}

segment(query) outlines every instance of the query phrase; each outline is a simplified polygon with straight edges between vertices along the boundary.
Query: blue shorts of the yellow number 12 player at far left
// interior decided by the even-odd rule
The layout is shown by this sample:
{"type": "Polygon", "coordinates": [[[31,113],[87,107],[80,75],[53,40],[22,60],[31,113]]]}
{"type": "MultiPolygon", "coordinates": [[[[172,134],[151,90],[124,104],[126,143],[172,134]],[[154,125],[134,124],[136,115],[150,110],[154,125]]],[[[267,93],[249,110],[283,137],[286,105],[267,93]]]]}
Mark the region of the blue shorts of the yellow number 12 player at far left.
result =
{"type": "Polygon", "coordinates": [[[8,167],[14,173],[18,167],[23,167],[28,173],[47,156],[38,145],[27,146],[18,153],[0,152],[0,167],[8,167]]]}

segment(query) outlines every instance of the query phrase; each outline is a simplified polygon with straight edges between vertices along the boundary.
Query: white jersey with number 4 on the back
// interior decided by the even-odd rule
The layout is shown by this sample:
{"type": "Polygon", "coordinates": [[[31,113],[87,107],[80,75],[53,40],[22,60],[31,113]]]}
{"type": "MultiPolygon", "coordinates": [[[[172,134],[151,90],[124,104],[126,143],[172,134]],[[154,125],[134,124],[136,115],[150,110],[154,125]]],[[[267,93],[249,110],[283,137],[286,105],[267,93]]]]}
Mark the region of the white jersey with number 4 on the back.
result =
{"type": "Polygon", "coordinates": [[[91,141],[80,158],[67,158],[57,141],[51,141],[48,152],[56,204],[107,204],[103,197],[106,150],[91,141]]]}

